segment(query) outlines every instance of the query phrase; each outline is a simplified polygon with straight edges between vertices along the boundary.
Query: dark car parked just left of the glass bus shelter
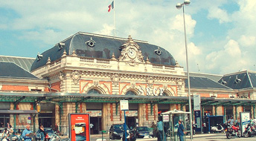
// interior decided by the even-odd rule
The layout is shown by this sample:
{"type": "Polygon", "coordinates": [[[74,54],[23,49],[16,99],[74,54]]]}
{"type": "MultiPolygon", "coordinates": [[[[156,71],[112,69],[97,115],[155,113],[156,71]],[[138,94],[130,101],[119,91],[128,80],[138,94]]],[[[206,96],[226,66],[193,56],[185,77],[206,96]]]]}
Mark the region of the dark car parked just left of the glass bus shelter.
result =
{"type": "Polygon", "coordinates": [[[133,129],[137,138],[153,137],[153,131],[146,126],[138,126],[133,129]]]}

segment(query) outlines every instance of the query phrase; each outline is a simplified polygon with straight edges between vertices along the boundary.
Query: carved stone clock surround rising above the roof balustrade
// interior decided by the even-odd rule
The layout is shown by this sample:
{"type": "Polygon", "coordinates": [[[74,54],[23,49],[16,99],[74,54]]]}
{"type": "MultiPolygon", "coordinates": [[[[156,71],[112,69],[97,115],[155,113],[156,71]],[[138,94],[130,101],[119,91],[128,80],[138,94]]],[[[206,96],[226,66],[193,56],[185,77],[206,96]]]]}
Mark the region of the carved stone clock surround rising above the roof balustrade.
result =
{"type": "Polygon", "coordinates": [[[119,61],[126,62],[144,62],[140,47],[133,41],[132,37],[129,36],[127,42],[120,47],[121,56],[119,61]]]}

